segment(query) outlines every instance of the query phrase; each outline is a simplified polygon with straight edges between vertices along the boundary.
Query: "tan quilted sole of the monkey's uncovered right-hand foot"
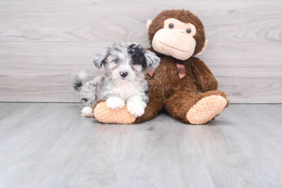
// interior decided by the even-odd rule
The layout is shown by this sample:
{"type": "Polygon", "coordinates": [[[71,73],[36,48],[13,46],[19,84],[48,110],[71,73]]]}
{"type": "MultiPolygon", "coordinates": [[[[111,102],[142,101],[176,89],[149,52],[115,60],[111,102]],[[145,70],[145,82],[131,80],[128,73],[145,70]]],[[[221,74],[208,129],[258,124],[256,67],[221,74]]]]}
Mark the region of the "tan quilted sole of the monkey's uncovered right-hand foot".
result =
{"type": "Polygon", "coordinates": [[[203,124],[212,120],[226,106],[227,101],[221,96],[208,96],[199,100],[188,111],[186,118],[191,124],[203,124]]]}

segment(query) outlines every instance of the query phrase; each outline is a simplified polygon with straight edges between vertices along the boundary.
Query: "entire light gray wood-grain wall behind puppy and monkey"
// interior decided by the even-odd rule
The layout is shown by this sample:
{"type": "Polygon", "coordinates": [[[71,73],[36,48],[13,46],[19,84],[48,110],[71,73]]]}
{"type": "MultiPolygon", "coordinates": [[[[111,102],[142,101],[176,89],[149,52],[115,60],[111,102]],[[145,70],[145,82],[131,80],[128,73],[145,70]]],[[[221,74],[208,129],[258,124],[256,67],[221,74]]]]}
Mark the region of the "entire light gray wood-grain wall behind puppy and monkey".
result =
{"type": "Polygon", "coordinates": [[[171,8],[203,21],[200,59],[231,103],[282,103],[282,2],[182,0],[0,1],[0,101],[78,102],[73,76],[103,71],[92,56],[118,40],[149,47],[147,20],[171,8]]]}

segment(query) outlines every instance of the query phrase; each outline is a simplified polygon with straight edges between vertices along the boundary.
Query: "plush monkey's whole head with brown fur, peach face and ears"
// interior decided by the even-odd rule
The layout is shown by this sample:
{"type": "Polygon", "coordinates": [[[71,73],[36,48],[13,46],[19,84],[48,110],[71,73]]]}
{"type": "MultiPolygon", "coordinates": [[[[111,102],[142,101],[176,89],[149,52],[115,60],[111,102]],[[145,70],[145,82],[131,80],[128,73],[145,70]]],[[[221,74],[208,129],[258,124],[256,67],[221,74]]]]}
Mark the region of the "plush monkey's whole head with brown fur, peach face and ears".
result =
{"type": "Polygon", "coordinates": [[[153,49],[179,60],[200,55],[207,40],[202,21],[188,10],[166,10],[153,21],[148,20],[147,31],[153,49]]]}

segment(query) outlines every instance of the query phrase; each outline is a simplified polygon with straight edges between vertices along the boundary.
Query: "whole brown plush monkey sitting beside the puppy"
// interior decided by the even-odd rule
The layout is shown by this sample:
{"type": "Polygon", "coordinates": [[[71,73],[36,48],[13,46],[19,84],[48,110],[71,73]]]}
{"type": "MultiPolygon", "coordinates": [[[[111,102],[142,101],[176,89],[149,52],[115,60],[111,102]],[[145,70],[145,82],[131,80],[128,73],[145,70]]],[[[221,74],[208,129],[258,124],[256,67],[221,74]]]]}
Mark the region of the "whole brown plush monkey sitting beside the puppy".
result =
{"type": "Polygon", "coordinates": [[[104,123],[142,123],[165,108],[186,124],[203,124],[228,106],[224,92],[199,58],[207,40],[203,23],[187,10],[166,10],[147,22],[151,50],[162,60],[155,72],[148,71],[149,102],[145,113],[135,119],[127,113],[106,108],[105,101],[93,106],[93,117],[104,123]]]}

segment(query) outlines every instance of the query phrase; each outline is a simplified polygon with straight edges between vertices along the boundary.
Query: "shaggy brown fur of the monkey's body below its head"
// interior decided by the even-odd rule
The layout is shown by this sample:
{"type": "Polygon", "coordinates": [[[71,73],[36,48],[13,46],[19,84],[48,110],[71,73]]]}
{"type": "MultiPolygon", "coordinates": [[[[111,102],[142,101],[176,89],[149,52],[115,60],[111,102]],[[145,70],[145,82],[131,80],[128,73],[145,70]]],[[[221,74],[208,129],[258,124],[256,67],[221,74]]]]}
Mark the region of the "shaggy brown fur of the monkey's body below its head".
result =
{"type": "Polygon", "coordinates": [[[144,115],[137,117],[134,123],[152,119],[162,107],[165,107],[172,117],[189,124],[186,114],[199,100],[212,95],[226,99],[225,93],[217,90],[217,81],[202,60],[191,57],[184,63],[186,76],[181,80],[177,74],[175,59],[170,56],[162,58],[152,77],[146,76],[150,100],[144,115]]]}

